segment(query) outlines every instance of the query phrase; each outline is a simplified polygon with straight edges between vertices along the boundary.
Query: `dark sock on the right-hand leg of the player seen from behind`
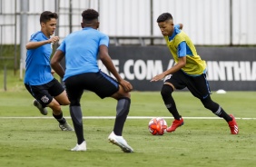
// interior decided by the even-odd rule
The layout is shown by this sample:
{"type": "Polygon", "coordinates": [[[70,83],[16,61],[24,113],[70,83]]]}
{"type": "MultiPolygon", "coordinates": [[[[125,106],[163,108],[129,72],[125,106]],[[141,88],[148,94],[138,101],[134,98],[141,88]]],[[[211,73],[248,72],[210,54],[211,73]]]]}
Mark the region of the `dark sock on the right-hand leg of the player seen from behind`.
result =
{"type": "Polygon", "coordinates": [[[113,126],[113,133],[122,136],[123,125],[130,110],[131,99],[123,98],[118,100],[116,105],[116,117],[113,126]]]}

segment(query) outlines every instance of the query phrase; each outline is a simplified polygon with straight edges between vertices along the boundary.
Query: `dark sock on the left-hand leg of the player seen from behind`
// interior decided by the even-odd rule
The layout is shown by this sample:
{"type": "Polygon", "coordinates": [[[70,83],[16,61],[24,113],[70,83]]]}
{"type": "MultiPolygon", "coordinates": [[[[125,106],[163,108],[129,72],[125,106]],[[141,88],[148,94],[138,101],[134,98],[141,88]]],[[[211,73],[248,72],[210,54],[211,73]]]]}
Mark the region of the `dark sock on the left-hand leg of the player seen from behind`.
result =
{"type": "Polygon", "coordinates": [[[70,115],[74,124],[74,132],[77,137],[77,143],[84,142],[84,127],[83,127],[83,115],[80,106],[69,106],[70,115]]]}

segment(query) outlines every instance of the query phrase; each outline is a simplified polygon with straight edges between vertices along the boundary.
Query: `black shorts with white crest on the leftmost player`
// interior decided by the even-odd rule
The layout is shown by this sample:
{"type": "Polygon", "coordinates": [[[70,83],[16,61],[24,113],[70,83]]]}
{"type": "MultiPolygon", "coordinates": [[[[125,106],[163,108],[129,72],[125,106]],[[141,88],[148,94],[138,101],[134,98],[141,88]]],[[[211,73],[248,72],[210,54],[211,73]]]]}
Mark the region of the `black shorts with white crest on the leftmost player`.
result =
{"type": "Polygon", "coordinates": [[[51,82],[41,85],[29,85],[25,83],[25,88],[43,107],[51,103],[54,96],[64,92],[63,85],[55,78],[51,82]]]}

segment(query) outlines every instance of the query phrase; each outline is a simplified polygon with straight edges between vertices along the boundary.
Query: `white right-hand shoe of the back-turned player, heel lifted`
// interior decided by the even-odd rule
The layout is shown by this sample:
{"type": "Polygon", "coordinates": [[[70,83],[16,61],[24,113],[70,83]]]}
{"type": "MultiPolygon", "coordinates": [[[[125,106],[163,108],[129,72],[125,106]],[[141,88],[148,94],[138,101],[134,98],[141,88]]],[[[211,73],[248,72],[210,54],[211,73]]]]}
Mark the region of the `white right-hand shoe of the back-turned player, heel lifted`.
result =
{"type": "Polygon", "coordinates": [[[108,136],[108,141],[119,146],[123,152],[133,152],[133,148],[123,139],[123,136],[117,136],[113,132],[108,136]]]}

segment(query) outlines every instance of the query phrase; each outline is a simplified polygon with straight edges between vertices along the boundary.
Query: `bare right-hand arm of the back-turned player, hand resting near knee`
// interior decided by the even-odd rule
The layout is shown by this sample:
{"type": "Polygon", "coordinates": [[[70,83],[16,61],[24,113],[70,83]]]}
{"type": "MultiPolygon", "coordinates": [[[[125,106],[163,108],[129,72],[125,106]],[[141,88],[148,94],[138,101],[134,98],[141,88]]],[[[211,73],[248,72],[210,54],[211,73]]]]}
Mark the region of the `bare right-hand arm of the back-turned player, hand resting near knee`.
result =
{"type": "Polygon", "coordinates": [[[116,69],[113,65],[112,59],[111,59],[110,55],[108,54],[108,48],[106,45],[100,45],[99,56],[100,56],[101,61],[105,65],[105,67],[108,69],[108,71],[110,71],[110,73],[113,74],[113,76],[116,78],[118,83],[120,83],[123,86],[124,91],[126,91],[126,92],[132,91],[133,90],[132,84],[123,80],[123,78],[120,76],[120,74],[118,74],[118,72],[116,71],[116,69]]]}

